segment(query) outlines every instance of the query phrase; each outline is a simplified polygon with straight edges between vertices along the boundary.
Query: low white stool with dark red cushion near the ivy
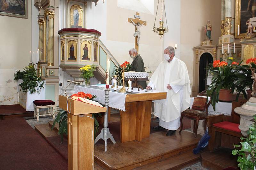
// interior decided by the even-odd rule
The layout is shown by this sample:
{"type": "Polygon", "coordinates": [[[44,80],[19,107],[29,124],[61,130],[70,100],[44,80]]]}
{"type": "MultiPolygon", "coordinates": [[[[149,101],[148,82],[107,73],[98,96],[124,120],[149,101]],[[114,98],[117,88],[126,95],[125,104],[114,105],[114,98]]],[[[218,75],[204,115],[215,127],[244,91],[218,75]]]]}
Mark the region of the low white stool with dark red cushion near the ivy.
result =
{"type": "Polygon", "coordinates": [[[52,116],[55,119],[55,102],[52,100],[34,100],[34,117],[39,121],[39,116],[52,116]],[[39,109],[48,108],[48,114],[39,115],[39,109]]]}

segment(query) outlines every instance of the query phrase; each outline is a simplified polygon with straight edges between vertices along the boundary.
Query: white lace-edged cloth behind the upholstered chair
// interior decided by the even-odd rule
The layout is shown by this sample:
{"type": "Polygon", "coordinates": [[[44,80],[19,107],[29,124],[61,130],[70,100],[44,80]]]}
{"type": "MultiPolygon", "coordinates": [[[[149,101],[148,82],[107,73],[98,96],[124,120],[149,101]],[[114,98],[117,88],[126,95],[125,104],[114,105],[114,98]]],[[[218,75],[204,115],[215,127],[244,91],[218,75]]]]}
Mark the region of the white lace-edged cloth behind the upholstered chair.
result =
{"type": "MultiPolygon", "coordinates": [[[[198,96],[198,97],[205,97],[205,96],[198,96]]],[[[206,97],[205,97],[206,98],[206,97]]],[[[208,102],[210,100],[210,97],[208,97],[208,102]]],[[[194,97],[190,97],[190,109],[193,105],[194,97]]],[[[208,114],[209,115],[220,115],[224,114],[227,116],[231,116],[232,111],[232,102],[218,102],[215,105],[215,111],[213,110],[212,104],[210,104],[208,108],[208,114]]]]}

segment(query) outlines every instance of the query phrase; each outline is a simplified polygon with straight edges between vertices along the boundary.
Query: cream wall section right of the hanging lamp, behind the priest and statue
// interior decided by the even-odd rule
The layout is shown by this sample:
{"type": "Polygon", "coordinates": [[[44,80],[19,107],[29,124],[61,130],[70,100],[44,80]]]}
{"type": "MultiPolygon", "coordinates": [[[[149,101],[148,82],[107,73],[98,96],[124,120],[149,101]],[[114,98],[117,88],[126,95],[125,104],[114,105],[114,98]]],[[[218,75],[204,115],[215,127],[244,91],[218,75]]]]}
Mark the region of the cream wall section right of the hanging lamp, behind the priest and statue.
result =
{"type": "MultiPolygon", "coordinates": [[[[180,59],[188,67],[191,90],[193,84],[194,46],[200,46],[205,39],[204,28],[207,21],[212,24],[212,45],[218,44],[220,37],[221,0],[181,0],[180,11],[180,59]]],[[[178,46],[179,48],[179,46],[178,46]]]]}

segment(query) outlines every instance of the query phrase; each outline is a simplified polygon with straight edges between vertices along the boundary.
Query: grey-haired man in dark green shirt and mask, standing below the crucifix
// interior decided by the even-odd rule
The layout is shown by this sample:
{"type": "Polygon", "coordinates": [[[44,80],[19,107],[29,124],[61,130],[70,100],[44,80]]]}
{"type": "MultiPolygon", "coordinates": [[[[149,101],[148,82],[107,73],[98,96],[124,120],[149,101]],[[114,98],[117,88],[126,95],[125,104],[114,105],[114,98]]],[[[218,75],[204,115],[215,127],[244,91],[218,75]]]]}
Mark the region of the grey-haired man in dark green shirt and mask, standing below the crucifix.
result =
{"type": "MultiPolygon", "coordinates": [[[[131,71],[136,72],[145,72],[144,62],[140,54],[138,54],[138,51],[135,48],[132,48],[129,51],[130,57],[133,59],[131,64],[131,71]]],[[[143,89],[146,89],[147,82],[146,81],[138,81],[138,83],[143,87],[143,89]]]]}

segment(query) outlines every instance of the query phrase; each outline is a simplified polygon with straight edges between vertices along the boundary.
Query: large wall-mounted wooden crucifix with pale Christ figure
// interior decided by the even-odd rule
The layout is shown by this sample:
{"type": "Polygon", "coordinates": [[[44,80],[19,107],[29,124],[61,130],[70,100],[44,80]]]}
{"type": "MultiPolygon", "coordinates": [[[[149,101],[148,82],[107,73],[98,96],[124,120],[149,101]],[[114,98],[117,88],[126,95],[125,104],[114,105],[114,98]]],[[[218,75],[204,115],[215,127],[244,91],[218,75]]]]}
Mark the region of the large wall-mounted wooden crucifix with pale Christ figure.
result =
{"type": "Polygon", "coordinates": [[[139,52],[139,41],[140,41],[140,27],[142,25],[147,25],[146,21],[140,20],[140,13],[136,12],[134,18],[128,18],[128,22],[132,23],[135,26],[135,32],[133,36],[135,37],[135,48],[139,52]]]}

